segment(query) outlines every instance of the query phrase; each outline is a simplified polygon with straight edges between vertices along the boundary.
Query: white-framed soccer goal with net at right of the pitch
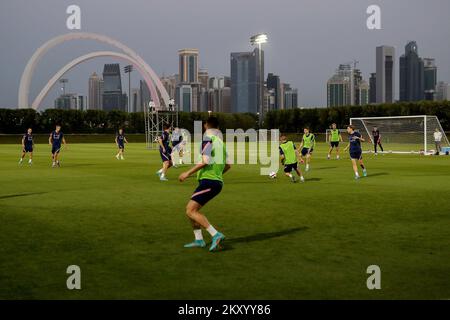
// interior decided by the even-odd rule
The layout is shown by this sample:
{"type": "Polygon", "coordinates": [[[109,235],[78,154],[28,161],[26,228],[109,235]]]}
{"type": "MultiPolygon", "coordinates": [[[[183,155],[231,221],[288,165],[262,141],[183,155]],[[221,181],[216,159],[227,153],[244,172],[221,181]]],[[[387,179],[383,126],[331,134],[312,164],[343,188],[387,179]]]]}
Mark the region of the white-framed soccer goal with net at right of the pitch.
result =
{"type": "Polygon", "coordinates": [[[377,128],[380,132],[384,152],[434,153],[436,152],[434,139],[436,131],[442,134],[441,146],[450,146],[448,138],[436,116],[351,118],[350,124],[355,126],[363,136],[370,137],[372,141],[372,131],[374,128],[377,128]]]}

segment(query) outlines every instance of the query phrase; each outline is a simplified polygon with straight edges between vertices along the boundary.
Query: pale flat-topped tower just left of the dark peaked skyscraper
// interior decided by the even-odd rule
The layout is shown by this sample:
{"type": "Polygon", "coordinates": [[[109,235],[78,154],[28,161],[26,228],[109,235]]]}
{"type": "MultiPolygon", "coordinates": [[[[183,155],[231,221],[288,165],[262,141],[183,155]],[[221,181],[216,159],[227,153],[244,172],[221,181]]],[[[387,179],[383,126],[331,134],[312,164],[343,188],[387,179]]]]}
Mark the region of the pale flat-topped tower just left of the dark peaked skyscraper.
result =
{"type": "Polygon", "coordinates": [[[395,48],[380,46],[376,49],[376,102],[392,103],[395,95],[395,48]]]}

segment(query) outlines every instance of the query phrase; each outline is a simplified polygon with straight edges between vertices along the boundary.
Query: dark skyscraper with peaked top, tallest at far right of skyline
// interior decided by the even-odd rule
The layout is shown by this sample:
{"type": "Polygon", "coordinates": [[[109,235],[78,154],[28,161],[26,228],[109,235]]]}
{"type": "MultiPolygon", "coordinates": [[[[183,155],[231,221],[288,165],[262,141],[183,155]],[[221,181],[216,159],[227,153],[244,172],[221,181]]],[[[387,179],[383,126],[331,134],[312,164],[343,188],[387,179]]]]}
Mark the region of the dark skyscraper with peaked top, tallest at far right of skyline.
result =
{"type": "Polygon", "coordinates": [[[415,41],[405,47],[400,57],[400,101],[419,101],[424,99],[424,64],[419,57],[415,41]]]}

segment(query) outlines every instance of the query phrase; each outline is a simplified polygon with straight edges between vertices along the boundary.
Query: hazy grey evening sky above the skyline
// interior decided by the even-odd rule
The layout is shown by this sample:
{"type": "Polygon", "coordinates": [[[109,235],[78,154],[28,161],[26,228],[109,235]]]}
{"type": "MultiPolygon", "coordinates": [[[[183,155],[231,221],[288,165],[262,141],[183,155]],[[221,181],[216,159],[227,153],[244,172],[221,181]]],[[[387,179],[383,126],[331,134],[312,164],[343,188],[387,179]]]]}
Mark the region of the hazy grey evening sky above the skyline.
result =
{"type": "MultiPolygon", "coordinates": [[[[326,81],[339,63],[359,60],[368,78],[375,72],[375,47],[382,44],[396,48],[397,95],[398,57],[409,40],[417,41],[422,57],[436,59],[438,80],[450,82],[449,0],[1,0],[0,107],[16,107],[20,76],[33,52],[71,32],[65,13],[71,4],[81,7],[81,31],[125,43],[158,74],[177,73],[177,51],[189,47],[200,50],[199,65],[210,75],[229,75],[230,52],[251,50],[249,37],[266,32],[266,74],[298,88],[304,106],[326,105],[326,81]],[[371,4],[381,7],[382,30],[366,28],[371,4]]],[[[36,69],[30,103],[67,62],[105,49],[114,48],[83,40],[52,49],[36,69]]],[[[76,67],[65,76],[67,91],[87,95],[89,75],[111,62],[99,58],[76,67]]],[[[140,77],[132,77],[136,86],[140,77]]],[[[58,94],[53,88],[43,105],[53,106],[58,94]]]]}

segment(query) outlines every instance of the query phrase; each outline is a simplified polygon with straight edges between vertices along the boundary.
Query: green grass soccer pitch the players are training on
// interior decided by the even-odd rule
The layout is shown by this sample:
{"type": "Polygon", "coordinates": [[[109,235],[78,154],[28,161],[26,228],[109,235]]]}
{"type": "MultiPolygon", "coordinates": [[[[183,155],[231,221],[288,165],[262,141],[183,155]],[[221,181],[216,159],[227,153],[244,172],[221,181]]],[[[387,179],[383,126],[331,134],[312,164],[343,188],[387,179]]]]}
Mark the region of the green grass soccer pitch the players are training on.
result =
{"type": "Polygon", "coordinates": [[[450,299],[450,157],[365,155],[355,181],[320,144],[304,184],[235,165],[204,209],[227,236],[210,253],[183,248],[187,166],[163,183],[143,144],[118,161],[113,144],[68,143],[59,169],[47,145],[31,167],[0,145],[0,299],[450,299]]]}

